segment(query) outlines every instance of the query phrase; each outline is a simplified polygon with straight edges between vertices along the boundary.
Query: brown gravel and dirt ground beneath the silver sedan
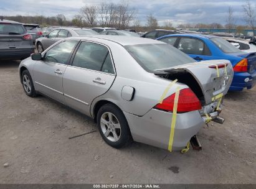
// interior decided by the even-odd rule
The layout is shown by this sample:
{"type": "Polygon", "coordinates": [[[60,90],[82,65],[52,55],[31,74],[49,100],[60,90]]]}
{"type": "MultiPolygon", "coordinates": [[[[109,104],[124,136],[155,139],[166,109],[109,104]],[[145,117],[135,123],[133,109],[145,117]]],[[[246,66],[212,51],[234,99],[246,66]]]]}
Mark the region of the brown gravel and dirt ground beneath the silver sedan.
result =
{"type": "Polygon", "coordinates": [[[26,96],[18,65],[0,62],[0,183],[256,183],[256,87],[226,95],[225,122],[201,129],[199,152],[137,142],[118,150],[98,131],[69,139],[97,129],[93,120],[26,96]]]}

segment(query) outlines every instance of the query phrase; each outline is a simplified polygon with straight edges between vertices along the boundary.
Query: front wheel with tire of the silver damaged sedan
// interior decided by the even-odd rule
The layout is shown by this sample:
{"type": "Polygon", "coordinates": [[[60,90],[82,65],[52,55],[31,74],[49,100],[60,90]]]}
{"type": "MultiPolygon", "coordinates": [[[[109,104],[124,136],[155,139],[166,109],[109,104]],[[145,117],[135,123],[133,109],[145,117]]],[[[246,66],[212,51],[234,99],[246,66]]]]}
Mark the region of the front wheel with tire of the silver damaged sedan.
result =
{"type": "Polygon", "coordinates": [[[37,96],[29,70],[22,71],[21,83],[27,96],[30,96],[30,97],[37,96]]]}

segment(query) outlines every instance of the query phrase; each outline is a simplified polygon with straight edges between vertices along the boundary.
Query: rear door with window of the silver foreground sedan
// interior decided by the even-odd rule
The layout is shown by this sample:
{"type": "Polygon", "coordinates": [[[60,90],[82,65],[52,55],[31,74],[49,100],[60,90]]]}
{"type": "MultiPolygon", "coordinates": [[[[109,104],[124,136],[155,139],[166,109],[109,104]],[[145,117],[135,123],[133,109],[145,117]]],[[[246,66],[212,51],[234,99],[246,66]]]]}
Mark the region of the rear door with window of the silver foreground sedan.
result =
{"type": "Polygon", "coordinates": [[[83,41],[64,73],[65,102],[90,115],[90,104],[108,91],[115,80],[115,69],[108,47],[83,41]]]}

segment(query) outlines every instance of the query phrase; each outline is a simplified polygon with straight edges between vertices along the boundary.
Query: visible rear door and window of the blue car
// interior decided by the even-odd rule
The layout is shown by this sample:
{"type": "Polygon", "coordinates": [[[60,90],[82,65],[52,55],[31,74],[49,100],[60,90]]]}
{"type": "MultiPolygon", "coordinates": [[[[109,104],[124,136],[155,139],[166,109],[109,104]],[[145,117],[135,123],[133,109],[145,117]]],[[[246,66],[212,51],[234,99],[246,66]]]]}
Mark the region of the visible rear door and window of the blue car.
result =
{"type": "Polygon", "coordinates": [[[182,52],[194,58],[197,62],[201,60],[211,60],[211,51],[200,39],[193,37],[181,37],[178,42],[177,48],[182,52]]]}

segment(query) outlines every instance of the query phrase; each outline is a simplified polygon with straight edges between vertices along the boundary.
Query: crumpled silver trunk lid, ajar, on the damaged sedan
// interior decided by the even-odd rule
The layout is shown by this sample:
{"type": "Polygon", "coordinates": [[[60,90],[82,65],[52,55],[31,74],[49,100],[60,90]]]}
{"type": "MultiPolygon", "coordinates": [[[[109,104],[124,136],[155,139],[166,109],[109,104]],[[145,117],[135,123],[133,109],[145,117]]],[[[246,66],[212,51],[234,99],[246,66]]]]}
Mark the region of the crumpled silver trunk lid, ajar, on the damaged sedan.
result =
{"type": "Polygon", "coordinates": [[[189,86],[201,101],[202,106],[211,104],[220,94],[225,95],[234,75],[229,60],[207,60],[159,71],[167,72],[168,79],[178,79],[179,82],[189,86]]]}

